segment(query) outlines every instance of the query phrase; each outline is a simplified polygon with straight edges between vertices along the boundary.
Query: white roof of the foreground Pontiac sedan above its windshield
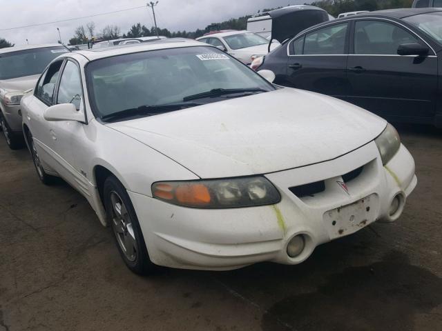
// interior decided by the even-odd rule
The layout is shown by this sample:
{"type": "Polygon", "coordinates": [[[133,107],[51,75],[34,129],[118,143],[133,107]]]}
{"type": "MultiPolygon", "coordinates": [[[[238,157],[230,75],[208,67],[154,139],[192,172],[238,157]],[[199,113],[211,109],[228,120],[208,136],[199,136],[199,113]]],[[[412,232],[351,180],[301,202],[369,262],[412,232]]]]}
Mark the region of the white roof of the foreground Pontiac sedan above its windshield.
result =
{"type": "Polygon", "coordinates": [[[193,39],[171,38],[151,41],[149,43],[136,43],[124,46],[114,46],[108,48],[96,48],[90,50],[80,50],[77,54],[81,54],[90,61],[103,59],[105,57],[115,57],[122,54],[131,54],[137,52],[145,52],[148,50],[164,50],[169,48],[182,48],[191,46],[207,46],[206,43],[195,41],[193,39]]]}

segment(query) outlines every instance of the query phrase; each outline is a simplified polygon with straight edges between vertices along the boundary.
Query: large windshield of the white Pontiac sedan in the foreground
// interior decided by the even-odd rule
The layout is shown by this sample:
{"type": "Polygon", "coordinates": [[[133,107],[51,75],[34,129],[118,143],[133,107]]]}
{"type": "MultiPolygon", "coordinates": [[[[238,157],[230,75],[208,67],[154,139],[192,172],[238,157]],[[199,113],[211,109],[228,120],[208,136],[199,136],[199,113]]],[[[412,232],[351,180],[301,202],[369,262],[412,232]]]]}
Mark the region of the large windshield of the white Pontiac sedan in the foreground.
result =
{"type": "MultiPolygon", "coordinates": [[[[212,47],[186,47],[123,54],[86,66],[89,97],[96,117],[144,106],[227,98],[222,90],[274,90],[239,61],[212,47]],[[212,94],[206,92],[215,90],[212,94]],[[201,97],[195,94],[204,93],[201,97]]],[[[193,105],[194,106],[194,105],[193,105]]],[[[180,109],[180,108],[178,108],[180,109]]]]}

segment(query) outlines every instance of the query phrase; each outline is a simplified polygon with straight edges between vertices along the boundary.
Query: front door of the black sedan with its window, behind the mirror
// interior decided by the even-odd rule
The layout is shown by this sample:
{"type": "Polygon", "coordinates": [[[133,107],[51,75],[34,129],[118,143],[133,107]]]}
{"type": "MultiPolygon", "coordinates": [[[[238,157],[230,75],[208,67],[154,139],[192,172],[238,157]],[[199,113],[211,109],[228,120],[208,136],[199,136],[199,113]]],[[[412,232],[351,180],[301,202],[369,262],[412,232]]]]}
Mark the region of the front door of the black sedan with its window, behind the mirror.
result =
{"type": "Polygon", "coordinates": [[[347,76],[349,102],[385,117],[434,116],[437,92],[437,57],[397,54],[402,43],[421,43],[404,26],[382,19],[354,22],[347,76]]]}

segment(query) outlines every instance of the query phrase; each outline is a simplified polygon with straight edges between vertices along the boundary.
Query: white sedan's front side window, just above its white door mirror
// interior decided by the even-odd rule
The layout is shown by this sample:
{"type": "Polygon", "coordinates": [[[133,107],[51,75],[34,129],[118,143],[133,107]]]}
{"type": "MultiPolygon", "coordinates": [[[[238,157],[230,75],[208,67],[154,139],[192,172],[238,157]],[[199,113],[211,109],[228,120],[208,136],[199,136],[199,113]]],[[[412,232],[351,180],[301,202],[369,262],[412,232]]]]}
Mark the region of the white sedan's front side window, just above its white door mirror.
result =
{"type": "Polygon", "coordinates": [[[73,103],[77,110],[83,100],[79,68],[73,61],[67,61],[60,79],[57,103],[73,103]]]}

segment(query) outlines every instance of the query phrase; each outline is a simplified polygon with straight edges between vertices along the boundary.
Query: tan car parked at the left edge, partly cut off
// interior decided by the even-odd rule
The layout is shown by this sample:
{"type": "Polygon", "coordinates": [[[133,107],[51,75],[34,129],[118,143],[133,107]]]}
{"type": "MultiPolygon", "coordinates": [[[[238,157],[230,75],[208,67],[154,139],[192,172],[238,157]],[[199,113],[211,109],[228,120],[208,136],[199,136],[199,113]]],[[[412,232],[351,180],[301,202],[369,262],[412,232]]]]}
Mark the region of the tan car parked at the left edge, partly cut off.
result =
{"type": "Polygon", "coordinates": [[[57,44],[0,49],[0,126],[8,146],[23,146],[20,100],[50,61],[69,50],[57,44]]]}

